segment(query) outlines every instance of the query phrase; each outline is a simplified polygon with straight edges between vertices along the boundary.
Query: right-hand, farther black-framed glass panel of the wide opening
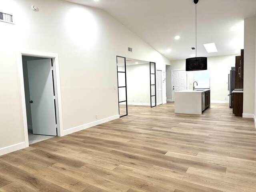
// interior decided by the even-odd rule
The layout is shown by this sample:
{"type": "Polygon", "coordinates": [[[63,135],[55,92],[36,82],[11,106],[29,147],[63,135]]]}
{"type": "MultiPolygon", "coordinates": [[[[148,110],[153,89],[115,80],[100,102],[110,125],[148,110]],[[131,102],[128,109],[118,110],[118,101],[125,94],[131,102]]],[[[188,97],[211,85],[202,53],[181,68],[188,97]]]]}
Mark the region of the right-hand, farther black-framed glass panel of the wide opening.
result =
{"type": "Polygon", "coordinates": [[[156,63],[149,63],[150,69],[150,106],[156,106],[156,63]]]}

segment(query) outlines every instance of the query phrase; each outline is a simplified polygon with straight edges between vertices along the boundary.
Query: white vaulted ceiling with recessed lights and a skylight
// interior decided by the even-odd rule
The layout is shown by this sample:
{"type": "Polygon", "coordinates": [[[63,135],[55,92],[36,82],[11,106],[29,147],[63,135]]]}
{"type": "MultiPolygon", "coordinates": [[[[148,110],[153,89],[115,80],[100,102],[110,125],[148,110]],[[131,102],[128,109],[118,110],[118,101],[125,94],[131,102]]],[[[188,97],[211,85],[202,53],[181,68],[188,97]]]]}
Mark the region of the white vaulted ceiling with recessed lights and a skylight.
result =
{"type": "MultiPolygon", "coordinates": [[[[100,8],[124,24],[170,60],[191,57],[196,51],[193,0],[66,0],[100,8]],[[175,40],[176,35],[180,36],[175,40]],[[167,49],[171,52],[167,52],[167,49]]],[[[237,54],[244,48],[244,18],[256,14],[256,0],[199,0],[197,56],[237,54]],[[203,44],[215,42],[218,52],[203,44]]]]}

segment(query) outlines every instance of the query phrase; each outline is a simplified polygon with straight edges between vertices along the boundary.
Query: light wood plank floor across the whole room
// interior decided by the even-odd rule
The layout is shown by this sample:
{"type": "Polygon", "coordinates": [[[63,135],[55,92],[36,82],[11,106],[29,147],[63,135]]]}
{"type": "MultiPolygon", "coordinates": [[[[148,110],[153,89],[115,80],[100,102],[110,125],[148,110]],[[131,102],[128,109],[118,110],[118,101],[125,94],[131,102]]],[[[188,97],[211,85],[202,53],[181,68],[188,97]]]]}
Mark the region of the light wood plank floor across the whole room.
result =
{"type": "Polygon", "coordinates": [[[256,130],[227,104],[174,104],[0,156],[0,192],[256,192],[256,130]]]}

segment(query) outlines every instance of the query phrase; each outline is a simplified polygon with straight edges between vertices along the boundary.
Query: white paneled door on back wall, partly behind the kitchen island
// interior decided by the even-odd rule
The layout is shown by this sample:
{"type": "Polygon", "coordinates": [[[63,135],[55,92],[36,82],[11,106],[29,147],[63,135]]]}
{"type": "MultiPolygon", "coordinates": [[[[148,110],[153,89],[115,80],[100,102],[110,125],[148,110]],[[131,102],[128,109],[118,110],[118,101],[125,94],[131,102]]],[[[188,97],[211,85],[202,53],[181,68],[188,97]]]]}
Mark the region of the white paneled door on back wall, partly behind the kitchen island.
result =
{"type": "Polygon", "coordinates": [[[174,93],[187,89],[186,70],[172,71],[172,101],[175,100],[174,93]]]}

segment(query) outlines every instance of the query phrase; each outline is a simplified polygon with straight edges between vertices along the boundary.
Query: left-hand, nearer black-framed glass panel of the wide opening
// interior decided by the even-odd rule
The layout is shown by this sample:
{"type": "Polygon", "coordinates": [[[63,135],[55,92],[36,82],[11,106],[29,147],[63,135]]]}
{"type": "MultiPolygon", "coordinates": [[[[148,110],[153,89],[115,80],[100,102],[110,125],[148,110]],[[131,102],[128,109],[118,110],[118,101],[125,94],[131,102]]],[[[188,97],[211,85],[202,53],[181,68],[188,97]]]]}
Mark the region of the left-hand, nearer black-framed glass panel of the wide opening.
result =
{"type": "Polygon", "coordinates": [[[128,114],[125,57],[116,56],[116,66],[117,66],[119,115],[120,117],[122,117],[128,114]]]}

